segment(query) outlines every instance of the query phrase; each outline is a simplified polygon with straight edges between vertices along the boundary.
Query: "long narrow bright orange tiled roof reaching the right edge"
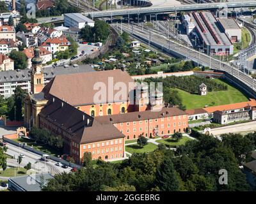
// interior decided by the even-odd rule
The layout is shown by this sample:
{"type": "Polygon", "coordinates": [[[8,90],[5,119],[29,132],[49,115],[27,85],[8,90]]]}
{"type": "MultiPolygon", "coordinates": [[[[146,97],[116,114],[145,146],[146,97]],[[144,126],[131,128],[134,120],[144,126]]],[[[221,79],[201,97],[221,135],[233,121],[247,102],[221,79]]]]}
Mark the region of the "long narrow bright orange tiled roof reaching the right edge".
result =
{"type": "Polygon", "coordinates": [[[232,103],[227,105],[220,105],[220,106],[212,106],[204,108],[208,113],[216,112],[217,110],[223,111],[223,110],[234,110],[239,108],[244,108],[245,106],[256,106],[256,100],[250,99],[250,101],[245,101],[241,103],[232,103]]]}

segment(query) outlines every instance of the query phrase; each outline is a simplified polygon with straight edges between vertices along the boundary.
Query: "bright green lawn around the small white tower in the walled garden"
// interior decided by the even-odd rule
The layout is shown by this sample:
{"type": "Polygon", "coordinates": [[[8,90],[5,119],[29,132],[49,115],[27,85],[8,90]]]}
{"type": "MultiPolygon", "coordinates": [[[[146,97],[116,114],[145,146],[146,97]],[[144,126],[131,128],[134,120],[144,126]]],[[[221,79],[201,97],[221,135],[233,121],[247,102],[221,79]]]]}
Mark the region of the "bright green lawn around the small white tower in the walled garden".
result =
{"type": "MultiPolygon", "coordinates": [[[[215,79],[220,83],[225,83],[219,79],[215,79]]],[[[227,84],[227,83],[225,83],[227,84]]],[[[182,98],[182,104],[186,106],[186,109],[204,108],[205,105],[217,106],[225,105],[230,103],[239,103],[248,101],[248,98],[235,87],[227,84],[227,91],[212,91],[208,92],[206,96],[200,96],[197,94],[190,94],[189,92],[179,91],[180,97],[182,98]]]]}

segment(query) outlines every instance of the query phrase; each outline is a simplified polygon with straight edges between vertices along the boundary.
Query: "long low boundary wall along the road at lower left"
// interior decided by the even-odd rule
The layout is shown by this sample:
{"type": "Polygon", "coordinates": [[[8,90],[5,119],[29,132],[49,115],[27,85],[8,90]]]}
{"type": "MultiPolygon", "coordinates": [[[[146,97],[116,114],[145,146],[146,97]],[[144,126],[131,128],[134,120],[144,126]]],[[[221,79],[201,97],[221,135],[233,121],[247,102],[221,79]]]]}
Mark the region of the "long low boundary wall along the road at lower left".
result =
{"type": "MultiPolygon", "coordinates": [[[[15,145],[17,147],[21,147],[22,149],[28,150],[29,152],[33,152],[33,153],[38,154],[40,156],[42,156],[43,154],[46,154],[45,152],[41,152],[39,150],[34,149],[33,147],[29,147],[29,146],[26,146],[24,144],[20,145],[18,142],[15,142],[15,141],[10,140],[10,139],[5,138],[5,137],[3,137],[3,141],[11,143],[12,145],[15,145]]],[[[52,156],[52,155],[49,155],[49,157],[52,161],[61,162],[65,165],[67,165],[67,166],[70,166],[71,168],[81,168],[81,166],[79,166],[77,164],[74,164],[74,163],[70,163],[68,161],[65,161],[64,159],[61,159],[61,158],[58,158],[58,157],[55,157],[55,156],[52,156]]]]}

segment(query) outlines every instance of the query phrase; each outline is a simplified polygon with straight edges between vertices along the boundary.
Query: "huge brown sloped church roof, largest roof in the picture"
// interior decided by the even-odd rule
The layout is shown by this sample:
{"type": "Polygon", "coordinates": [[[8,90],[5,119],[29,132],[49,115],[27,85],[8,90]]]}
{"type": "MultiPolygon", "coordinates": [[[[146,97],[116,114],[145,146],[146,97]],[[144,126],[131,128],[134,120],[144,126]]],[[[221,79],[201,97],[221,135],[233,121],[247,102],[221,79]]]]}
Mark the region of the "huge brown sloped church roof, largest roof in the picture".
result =
{"type": "Polygon", "coordinates": [[[112,103],[114,101],[129,101],[129,93],[134,90],[134,87],[132,87],[132,85],[134,85],[133,83],[134,80],[130,75],[126,71],[121,71],[120,69],[93,71],[56,76],[51,84],[47,84],[44,87],[44,92],[46,96],[56,96],[64,101],[68,101],[68,103],[73,106],[112,103]],[[114,99],[114,96],[116,96],[120,90],[113,90],[114,88],[111,85],[112,80],[113,85],[116,85],[116,83],[124,85],[124,89],[122,90],[126,93],[123,94],[122,98],[114,99]],[[129,83],[131,83],[130,86],[129,83]],[[100,91],[95,85],[99,85],[100,87],[101,85],[106,85],[106,99],[101,98],[95,101],[94,96],[100,91]],[[109,91],[113,91],[113,94],[109,91]],[[113,97],[109,98],[108,96],[111,95],[113,95],[113,97]]]}

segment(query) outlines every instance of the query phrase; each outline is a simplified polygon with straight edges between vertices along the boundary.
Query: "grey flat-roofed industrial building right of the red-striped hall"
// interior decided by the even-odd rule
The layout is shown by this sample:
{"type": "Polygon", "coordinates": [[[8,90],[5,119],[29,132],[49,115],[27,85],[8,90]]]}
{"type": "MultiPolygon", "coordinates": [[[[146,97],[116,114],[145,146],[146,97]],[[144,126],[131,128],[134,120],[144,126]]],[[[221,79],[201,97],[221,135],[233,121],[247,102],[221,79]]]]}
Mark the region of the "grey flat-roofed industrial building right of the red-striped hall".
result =
{"type": "Polygon", "coordinates": [[[220,25],[232,43],[242,40],[242,30],[234,18],[219,18],[220,25]]]}

